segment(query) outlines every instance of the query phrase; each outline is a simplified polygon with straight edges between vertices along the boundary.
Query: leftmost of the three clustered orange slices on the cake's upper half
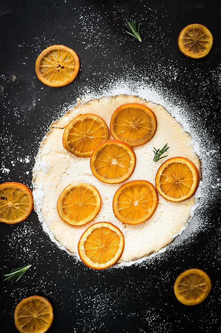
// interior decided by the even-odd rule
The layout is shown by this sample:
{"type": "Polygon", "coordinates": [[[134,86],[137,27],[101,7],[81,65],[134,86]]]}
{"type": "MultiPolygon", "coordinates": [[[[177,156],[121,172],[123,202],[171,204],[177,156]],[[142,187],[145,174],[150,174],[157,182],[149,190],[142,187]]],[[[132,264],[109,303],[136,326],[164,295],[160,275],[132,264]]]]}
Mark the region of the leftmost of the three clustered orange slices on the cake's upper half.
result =
{"type": "Polygon", "coordinates": [[[63,133],[63,146],[75,156],[91,156],[94,149],[108,140],[106,123],[98,116],[85,114],[74,118],[63,133]]]}

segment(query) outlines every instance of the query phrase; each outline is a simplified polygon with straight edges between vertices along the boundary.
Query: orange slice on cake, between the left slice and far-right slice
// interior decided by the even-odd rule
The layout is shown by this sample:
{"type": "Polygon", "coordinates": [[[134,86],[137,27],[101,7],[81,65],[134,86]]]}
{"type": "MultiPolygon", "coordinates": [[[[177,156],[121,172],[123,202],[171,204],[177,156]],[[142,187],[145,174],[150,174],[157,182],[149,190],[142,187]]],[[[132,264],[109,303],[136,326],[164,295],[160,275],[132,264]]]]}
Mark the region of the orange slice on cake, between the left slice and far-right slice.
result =
{"type": "Polygon", "coordinates": [[[118,188],[113,197],[114,215],[123,223],[147,221],[158,205],[158,194],[147,180],[133,180],[118,188]]]}

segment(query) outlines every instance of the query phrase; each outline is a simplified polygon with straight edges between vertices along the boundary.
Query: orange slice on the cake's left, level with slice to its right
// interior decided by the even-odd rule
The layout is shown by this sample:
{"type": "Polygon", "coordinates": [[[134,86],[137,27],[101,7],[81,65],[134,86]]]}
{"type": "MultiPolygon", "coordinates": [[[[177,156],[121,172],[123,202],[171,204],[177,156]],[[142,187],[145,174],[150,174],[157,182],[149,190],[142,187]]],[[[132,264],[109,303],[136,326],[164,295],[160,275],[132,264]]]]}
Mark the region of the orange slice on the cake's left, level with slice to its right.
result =
{"type": "Polygon", "coordinates": [[[90,184],[77,181],[65,187],[57,200],[60,218],[71,225],[83,225],[99,212],[101,198],[98,190],[90,184]]]}

